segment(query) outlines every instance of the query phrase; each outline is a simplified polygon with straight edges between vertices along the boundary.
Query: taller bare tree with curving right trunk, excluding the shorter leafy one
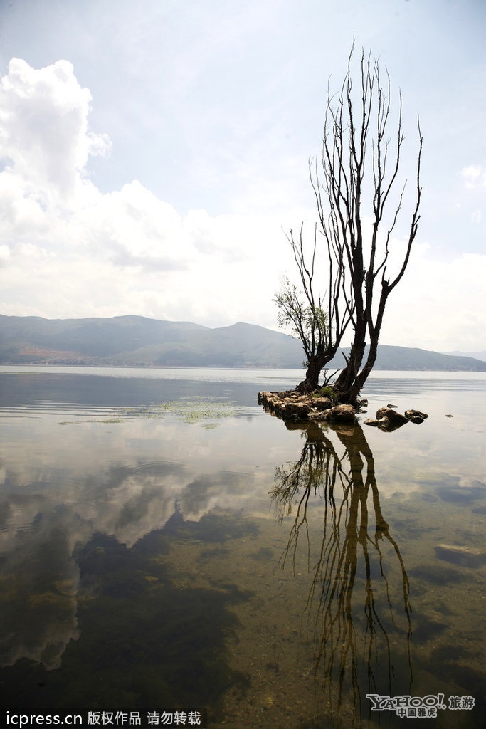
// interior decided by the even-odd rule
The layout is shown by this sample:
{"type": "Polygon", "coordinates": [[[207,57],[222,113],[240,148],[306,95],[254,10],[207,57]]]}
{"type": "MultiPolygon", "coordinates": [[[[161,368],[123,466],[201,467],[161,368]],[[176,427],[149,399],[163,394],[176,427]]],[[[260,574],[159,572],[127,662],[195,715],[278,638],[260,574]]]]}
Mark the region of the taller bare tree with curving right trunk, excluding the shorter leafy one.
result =
{"type": "MultiPolygon", "coordinates": [[[[392,233],[404,202],[406,181],[399,183],[402,147],[401,93],[393,136],[391,88],[388,71],[361,54],[357,93],[348,71],[337,98],[328,96],[321,157],[322,184],[315,191],[318,208],[328,209],[334,235],[342,239],[345,265],[353,292],[353,341],[350,355],[334,387],[341,402],[354,402],[375,364],[378,340],[388,296],[404,276],[420,219],[420,159],[423,137],[418,122],[416,190],[409,230],[398,260],[391,267],[392,233]],[[398,188],[398,191],[397,191],[398,188]],[[369,349],[366,354],[366,346],[369,349]]],[[[321,218],[323,214],[321,213],[321,218]]],[[[394,251],[393,251],[394,254],[394,251]]]]}

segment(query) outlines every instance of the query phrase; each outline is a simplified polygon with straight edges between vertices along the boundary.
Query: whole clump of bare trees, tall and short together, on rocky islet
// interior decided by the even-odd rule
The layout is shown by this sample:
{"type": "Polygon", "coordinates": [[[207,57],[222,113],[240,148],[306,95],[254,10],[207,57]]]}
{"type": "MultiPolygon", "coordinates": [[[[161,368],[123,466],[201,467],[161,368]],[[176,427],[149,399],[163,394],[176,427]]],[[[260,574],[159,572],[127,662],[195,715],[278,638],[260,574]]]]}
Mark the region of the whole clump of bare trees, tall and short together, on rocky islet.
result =
{"type": "Polygon", "coordinates": [[[333,96],[328,92],[321,157],[310,164],[319,220],[310,257],[305,256],[302,227],[297,237],[292,231],[287,236],[303,286],[303,300],[299,301],[297,289],[288,280],[275,299],[281,313],[279,324],[293,322],[307,357],[306,378],[297,388],[300,391],[317,387],[321,370],[333,359],[351,325],[350,354],[334,383],[340,402],[356,400],[375,364],[385,305],[404,276],[417,234],[422,192],[423,137],[418,123],[416,190],[409,229],[397,255],[400,241],[392,235],[406,189],[406,181],[399,182],[405,140],[401,93],[393,114],[388,71],[383,74],[380,64],[370,55],[366,58],[364,52],[355,89],[353,52],[354,44],[340,93],[333,96]],[[391,127],[393,133],[388,131],[391,127]],[[327,260],[327,274],[316,283],[315,257],[321,253],[327,260]],[[325,300],[315,295],[316,286],[321,290],[327,286],[325,300]]]}

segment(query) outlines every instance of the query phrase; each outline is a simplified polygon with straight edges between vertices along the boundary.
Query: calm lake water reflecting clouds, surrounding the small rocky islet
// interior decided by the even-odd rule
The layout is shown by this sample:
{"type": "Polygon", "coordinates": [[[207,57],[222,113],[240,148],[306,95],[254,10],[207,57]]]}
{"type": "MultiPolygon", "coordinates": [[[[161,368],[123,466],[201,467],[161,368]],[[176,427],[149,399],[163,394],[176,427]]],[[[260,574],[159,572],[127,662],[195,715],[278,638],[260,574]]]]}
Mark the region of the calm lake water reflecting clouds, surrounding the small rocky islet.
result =
{"type": "Polygon", "coordinates": [[[0,367],[4,708],[485,725],[486,376],[374,373],[331,429],[256,404],[299,375],[0,367]]]}

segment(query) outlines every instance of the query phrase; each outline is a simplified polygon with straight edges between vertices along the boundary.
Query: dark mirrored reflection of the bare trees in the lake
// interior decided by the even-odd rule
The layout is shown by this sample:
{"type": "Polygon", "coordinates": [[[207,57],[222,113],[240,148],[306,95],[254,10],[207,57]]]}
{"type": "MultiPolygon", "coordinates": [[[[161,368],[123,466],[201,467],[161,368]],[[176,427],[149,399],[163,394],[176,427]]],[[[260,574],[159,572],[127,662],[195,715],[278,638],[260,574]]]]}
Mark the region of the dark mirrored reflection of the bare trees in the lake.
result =
{"type": "Polygon", "coordinates": [[[356,726],[369,714],[367,693],[403,695],[411,688],[409,580],[383,518],[375,461],[361,427],[287,426],[302,429],[305,445],[298,461],[275,469],[271,495],[278,519],[293,516],[281,566],[291,561],[296,569],[306,551],[312,580],[303,617],[315,642],[316,687],[338,723],[349,702],[356,726]],[[342,456],[334,434],[338,448],[345,447],[342,456]],[[318,504],[322,543],[313,545],[310,512],[318,504]]]}

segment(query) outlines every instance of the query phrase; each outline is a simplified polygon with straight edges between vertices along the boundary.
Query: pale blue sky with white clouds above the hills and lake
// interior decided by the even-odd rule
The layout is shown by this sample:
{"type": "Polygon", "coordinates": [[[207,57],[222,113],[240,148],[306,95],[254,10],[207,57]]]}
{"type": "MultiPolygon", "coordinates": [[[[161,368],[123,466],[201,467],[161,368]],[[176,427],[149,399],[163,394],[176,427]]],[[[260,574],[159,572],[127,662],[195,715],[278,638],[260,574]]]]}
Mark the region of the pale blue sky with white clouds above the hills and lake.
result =
{"type": "Polygon", "coordinates": [[[0,313],[277,329],[354,38],[401,91],[410,195],[424,140],[380,341],[486,350],[485,27],[484,0],[0,0],[0,313]]]}

